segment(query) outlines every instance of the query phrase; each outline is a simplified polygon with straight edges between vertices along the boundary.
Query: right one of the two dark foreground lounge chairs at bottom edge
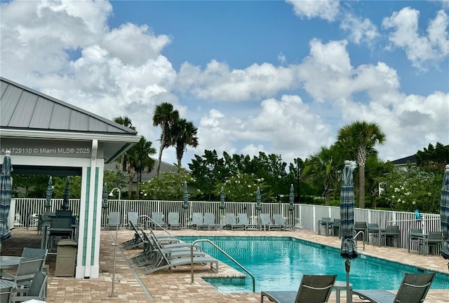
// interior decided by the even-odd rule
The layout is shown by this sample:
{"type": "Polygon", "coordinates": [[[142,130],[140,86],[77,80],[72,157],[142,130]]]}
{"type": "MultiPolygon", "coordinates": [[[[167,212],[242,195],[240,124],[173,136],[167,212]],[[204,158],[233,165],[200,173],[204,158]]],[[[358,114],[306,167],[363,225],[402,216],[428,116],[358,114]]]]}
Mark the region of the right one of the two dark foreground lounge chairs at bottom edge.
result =
{"type": "Polygon", "coordinates": [[[352,290],[352,294],[372,303],[422,303],[434,276],[435,273],[405,274],[396,295],[387,290],[352,290]]]}

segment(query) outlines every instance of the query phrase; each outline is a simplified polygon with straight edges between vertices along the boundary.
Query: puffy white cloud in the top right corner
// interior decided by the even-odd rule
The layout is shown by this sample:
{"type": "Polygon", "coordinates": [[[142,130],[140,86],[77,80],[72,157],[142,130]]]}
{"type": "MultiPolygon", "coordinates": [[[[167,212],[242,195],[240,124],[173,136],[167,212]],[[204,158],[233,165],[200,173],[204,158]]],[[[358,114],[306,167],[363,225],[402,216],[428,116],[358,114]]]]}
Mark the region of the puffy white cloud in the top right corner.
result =
{"type": "Polygon", "coordinates": [[[427,27],[427,35],[420,33],[420,12],[403,8],[382,21],[384,29],[393,29],[389,41],[403,48],[413,66],[422,68],[426,62],[439,62],[449,54],[448,15],[440,10],[427,27]]]}

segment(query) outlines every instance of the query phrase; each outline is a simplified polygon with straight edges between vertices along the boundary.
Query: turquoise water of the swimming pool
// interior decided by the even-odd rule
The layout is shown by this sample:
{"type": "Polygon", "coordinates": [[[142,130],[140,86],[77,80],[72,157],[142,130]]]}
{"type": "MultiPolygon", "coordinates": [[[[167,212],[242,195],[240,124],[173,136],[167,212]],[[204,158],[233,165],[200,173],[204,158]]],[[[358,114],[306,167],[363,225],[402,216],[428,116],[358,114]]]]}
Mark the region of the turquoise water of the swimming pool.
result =
{"type": "MultiPolygon", "coordinates": [[[[180,237],[193,242],[205,237],[180,237]]],[[[340,249],[314,244],[290,237],[207,237],[246,267],[255,276],[256,292],[260,290],[297,290],[303,274],[337,274],[337,280],[346,281],[344,259],[340,249]]],[[[210,244],[203,242],[203,251],[236,266],[210,244]]],[[[420,269],[359,255],[351,260],[349,280],[358,289],[397,289],[406,272],[420,269]]],[[[222,293],[247,293],[252,291],[252,279],[205,279],[222,293]]],[[[431,288],[449,289],[449,275],[436,274],[431,288]]]]}

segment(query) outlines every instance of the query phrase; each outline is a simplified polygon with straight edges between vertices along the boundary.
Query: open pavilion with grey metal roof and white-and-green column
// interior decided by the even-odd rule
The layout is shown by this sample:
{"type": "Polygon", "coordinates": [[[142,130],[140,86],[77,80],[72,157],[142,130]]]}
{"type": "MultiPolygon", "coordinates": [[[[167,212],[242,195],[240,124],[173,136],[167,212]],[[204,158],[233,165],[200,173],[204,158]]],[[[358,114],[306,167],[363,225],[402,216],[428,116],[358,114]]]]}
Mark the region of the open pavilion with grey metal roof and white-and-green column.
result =
{"type": "Polygon", "coordinates": [[[133,129],[0,77],[0,161],[10,150],[14,174],[81,176],[77,278],[100,270],[105,163],[139,140],[133,129]]]}

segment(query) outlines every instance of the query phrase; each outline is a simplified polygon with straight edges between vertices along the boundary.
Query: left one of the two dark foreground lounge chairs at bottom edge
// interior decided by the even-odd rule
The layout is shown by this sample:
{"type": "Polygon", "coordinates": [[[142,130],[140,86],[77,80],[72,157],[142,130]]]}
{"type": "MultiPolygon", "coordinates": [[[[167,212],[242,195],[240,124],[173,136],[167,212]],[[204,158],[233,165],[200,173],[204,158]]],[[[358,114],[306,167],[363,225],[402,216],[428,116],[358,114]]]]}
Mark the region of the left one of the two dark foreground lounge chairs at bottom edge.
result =
{"type": "Polygon", "coordinates": [[[276,303],[323,303],[328,302],[337,275],[302,276],[300,288],[295,291],[260,292],[260,303],[264,297],[276,303]]]}

